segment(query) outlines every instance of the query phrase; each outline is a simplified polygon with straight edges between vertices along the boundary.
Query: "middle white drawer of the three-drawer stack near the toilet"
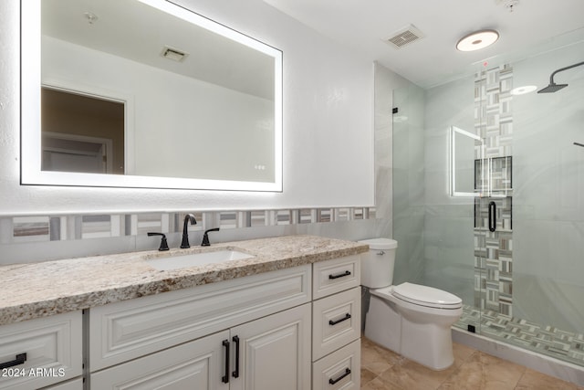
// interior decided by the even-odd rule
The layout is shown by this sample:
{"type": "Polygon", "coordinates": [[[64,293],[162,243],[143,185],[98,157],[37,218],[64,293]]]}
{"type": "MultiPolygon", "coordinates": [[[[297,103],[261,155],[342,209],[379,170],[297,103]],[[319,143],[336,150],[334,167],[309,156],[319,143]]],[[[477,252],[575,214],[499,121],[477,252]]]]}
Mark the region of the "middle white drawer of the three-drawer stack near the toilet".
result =
{"type": "Polygon", "coordinates": [[[330,295],[312,304],[312,359],[338,350],[360,337],[361,289],[330,295]]]}

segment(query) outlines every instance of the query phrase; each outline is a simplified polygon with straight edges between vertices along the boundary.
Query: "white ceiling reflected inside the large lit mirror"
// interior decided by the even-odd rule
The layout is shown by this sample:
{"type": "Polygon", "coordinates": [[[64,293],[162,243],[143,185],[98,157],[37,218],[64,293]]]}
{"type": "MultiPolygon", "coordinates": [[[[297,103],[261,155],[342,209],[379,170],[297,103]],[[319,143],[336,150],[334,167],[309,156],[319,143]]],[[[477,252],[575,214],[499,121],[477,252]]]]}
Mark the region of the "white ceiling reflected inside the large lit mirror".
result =
{"type": "Polygon", "coordinates": [[[274,57],[246,46],[252,39],[243,35],[237,35],[238,41],[224,37],[236,34],[208,19],[197,26],[138,1],[43,0],[41,6],[44,36],[274,100],[274,57]],[[165,47],[187,56],[182,61],[163,58],[165,47]]]}

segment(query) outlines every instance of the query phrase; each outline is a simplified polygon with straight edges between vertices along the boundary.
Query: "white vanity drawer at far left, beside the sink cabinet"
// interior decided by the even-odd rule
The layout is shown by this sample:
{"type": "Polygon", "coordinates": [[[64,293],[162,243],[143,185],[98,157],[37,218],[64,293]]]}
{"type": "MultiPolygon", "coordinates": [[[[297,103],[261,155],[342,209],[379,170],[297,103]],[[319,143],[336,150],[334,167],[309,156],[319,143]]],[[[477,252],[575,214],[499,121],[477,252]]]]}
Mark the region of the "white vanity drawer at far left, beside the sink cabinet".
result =
{"type": "Polygon", "coordinates": [[[72,311],[0,326],[0,389],[38,388],[81,375],[81,323],[81,311],[72,311]]]}

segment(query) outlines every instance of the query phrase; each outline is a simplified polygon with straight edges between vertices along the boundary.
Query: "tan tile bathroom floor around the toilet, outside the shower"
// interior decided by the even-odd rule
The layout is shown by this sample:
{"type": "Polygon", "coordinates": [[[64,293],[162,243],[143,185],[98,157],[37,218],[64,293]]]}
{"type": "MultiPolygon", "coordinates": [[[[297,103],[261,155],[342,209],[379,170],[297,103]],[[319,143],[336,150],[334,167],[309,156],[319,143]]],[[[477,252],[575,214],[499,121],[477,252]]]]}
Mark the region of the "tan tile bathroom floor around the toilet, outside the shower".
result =
{"type": "Polygon", "coordinates": [[[361,390],[584,390],[459,343],[454,364],[433,371],[361,340],[361,390]]]}

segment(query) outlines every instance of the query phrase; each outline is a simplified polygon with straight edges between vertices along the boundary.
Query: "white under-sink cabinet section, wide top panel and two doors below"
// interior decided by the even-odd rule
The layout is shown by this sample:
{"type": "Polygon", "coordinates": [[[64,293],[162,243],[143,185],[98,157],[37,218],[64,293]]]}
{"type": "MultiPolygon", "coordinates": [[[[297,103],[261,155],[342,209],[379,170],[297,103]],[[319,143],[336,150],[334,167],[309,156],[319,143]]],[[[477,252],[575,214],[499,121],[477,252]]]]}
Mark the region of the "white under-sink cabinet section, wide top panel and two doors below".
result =
{"type": "Polygon", "coordinates": [[[89,311],[91,389],[310,386],[311,266],[89,311]]]}

